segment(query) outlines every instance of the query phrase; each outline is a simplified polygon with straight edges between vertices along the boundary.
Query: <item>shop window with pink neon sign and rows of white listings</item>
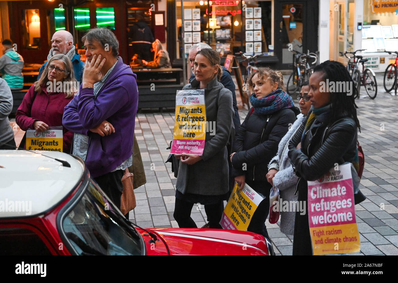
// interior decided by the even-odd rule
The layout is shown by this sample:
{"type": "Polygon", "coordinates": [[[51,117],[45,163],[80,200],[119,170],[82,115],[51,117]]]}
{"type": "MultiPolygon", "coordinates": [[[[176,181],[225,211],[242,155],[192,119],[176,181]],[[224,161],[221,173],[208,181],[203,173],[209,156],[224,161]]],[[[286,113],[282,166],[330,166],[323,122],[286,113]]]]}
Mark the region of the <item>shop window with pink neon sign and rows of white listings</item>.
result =
{"type": "Polygon", "coordinates": [[[271,1],[184,1],[183,11],[180,2],[176,4],[177,58],[182,58],[198,42],[209,44],[221,57],[239,51],[247,54],[268,51],[271,1]],[[242,11],[243,4],[249,12],[242,11]]]}

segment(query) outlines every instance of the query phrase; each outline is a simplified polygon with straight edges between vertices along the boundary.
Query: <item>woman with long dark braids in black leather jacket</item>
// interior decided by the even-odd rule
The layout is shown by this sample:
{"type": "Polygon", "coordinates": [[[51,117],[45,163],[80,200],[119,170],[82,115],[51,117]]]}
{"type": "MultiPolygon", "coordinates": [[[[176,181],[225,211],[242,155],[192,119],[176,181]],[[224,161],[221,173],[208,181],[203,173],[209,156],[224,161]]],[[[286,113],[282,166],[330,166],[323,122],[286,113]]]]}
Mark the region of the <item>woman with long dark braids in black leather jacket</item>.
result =
{"type": "Polygon", "coordinates": [[[310,77],[308,96],[311,109],[289,142],[288,155],[299,177],[298,201],[306,202],[306,213],[301,215],[296,212],[293,255],[312,255],[307,181],[320,178],[335,163],[353,162],[357,157],[357,128],[360,129],[360,125],[354,101],[355,91],[347,69],[336,61],[319,64],[310,77]],[[328,88],[322,87],[336,82],[347,82],[348,90],[326,92],[328,88]]]}

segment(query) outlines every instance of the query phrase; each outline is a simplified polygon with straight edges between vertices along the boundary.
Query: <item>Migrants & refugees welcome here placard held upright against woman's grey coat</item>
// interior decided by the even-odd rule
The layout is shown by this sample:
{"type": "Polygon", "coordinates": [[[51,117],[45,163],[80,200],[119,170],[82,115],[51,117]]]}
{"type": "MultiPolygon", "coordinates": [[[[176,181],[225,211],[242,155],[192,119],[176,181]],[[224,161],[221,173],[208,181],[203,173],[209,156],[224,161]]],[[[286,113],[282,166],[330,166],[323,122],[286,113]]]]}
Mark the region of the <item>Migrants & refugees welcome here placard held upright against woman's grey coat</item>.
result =
{"type": "Polygon", "coordinates": [[[178,90],[172,154],[202,155],[206,139],[205,90],[178,90]]]}

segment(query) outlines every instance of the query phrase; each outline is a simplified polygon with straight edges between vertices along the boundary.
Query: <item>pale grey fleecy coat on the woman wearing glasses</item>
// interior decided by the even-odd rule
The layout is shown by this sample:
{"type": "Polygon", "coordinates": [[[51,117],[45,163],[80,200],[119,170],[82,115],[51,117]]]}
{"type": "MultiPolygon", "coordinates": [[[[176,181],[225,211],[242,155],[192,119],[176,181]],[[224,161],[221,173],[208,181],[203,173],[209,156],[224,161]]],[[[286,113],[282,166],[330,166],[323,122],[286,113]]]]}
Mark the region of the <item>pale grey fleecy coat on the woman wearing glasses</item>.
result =
{"type": "MultiPolygon", "coordinates": [[[[293,173],[293,167],[290,163],[289,156],[289,141],[294,133],[300,127],[305,116],[302,114],[297,115],[297,120],[287,131],[286,135],[281,139],[278,145],[278,153],[274,156],[268,164],[268,170],[276,169],[277,174],[273,179],[273,185],[279,189],[281,201],[297,201],[298,195],[295,195],[297,176],[293,173]]],[[[293,235],[295,229],[295,212],[281,211],[281,232],[293,235]]]]}

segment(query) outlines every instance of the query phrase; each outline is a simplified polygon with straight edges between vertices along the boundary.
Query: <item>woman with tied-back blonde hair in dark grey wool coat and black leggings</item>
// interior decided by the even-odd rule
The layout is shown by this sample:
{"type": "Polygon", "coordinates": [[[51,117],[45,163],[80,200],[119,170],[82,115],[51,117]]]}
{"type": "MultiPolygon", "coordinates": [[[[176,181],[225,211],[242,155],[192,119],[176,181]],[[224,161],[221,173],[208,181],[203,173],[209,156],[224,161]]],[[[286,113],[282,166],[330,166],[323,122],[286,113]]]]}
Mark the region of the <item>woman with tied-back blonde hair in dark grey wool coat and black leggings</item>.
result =
{"type": "Polygon", "coordinates": [[[191,218],[195,203],[205,206],[210,228],[219,224],[224,210],[223,197],[228,191],[228,154],[226,144],[232,127],[232,95],[218,82],[222,75],[220,56],[209,48],[201,49],[195,57],[195,79],[183,90],[205,89],[206,131],[203,154],[175,154],[180,159],[176,184],[174,219],[180,228],[197,228],[191,218]],[[215,125],[215,131],[214,131],[215,125]]]}

